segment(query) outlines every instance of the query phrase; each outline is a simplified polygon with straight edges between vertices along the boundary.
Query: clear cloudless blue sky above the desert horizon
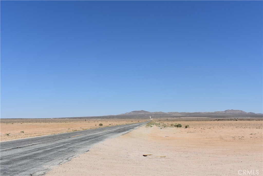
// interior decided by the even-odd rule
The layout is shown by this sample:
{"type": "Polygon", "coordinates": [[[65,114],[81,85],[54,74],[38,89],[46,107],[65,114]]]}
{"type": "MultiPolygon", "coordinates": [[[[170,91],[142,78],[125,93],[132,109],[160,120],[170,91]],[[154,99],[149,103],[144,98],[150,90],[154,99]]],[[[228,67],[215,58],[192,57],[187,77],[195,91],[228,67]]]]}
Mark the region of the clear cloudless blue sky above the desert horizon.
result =
{"type": "Polygon", "coordinates": [[[1,118],[262,113],[262,1],[1,1],[1,118]]]}

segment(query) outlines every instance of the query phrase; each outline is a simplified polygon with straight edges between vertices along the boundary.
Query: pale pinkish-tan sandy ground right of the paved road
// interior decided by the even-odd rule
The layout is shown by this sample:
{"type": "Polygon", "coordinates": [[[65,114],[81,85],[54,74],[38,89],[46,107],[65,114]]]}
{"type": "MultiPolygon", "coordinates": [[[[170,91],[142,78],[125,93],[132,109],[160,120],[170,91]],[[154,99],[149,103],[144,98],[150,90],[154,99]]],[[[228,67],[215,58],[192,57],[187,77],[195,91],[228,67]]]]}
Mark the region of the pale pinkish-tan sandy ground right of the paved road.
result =
{"type": "Polygon", "coordinates": [[[262,121],[177,123],[100,142],[46,175],[263,175],[262,121]]]}

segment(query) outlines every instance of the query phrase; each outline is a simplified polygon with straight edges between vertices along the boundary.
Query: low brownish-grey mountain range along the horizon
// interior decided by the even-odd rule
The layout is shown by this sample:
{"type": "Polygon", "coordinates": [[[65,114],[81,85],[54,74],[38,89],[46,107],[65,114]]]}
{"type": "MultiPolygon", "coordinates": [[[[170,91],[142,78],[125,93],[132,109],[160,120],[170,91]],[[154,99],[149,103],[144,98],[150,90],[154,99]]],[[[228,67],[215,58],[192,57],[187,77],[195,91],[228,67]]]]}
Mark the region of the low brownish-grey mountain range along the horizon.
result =
{"type": "Polygon", "coordinates": [[[245,112],[241,110],[225,110],[225,111],[215,111],[215,112],[149,112],[149,111],[131,111],[124,114],[119,114],[117,116],[254,116],[263,115],[261,113],[245,112]]]}

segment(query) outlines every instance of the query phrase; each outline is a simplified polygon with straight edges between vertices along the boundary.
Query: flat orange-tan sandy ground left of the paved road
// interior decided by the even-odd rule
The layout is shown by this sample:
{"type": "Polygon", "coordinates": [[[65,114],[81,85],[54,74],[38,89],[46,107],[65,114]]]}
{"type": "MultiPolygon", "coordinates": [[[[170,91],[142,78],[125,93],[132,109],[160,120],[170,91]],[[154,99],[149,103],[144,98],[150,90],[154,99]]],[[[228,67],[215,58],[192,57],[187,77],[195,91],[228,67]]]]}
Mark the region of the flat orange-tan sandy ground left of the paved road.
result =
{"type": "MultiPolygon", "coordinates": [[[[148,120],[148,119],[147,119],[148,120]]],[[[145,119],[1,119],[1,141],[147,121],[145,119]]]]}

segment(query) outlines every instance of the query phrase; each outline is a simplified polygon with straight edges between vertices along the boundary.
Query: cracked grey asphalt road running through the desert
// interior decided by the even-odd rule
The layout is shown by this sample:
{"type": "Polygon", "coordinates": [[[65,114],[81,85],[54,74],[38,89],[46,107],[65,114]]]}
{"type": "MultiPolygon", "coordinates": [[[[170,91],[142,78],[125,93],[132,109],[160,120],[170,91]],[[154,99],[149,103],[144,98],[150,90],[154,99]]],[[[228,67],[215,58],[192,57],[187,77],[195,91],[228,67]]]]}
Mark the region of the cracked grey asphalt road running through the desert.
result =
{"type": "Polygon", "coordinates": [[[123,135],[146,123],[1,142],[0,175],[43,175],[50,166],[69,161],[100,141],[123,135]]]}

